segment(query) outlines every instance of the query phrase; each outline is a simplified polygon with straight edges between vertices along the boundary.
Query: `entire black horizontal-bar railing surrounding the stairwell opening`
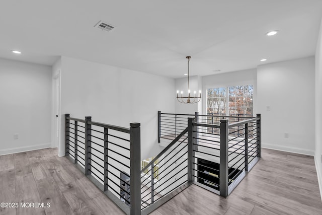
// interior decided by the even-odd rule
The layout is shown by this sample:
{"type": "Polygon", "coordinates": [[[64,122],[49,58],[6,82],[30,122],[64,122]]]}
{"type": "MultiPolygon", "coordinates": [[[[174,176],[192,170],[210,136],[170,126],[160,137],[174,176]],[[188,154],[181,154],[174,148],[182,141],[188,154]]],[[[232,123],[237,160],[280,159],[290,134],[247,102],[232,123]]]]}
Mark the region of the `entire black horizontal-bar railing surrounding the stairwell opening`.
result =
{"type": "Polygon", "coordinates": [[[126,214],[148,214],[193,183],[227,197],[261,157],[261,115],[159,111],[158,137],[172,141],[141,169],[139,123],[124,128],[65,114],[66,157],[126,214]]]}

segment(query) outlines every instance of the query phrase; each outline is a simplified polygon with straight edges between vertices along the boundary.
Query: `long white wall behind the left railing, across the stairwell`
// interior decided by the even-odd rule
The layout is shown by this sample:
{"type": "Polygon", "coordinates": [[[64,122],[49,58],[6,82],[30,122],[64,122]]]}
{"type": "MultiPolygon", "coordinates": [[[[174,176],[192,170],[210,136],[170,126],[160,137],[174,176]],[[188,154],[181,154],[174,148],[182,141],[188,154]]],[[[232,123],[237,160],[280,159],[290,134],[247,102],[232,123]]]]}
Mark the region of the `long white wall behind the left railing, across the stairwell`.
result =
{"type": "MultiPolygon", "coordinates": [[[[61,58],[61,120],[63,114],[129,127],[141,123],[141,158],[154,156],[157,144],[157,111],[175,111],[173,79],[139,71],[61,58]]],[[[61,127],[63,133],[64,127],[61,127]]],[[[59,155],[64,155],[61,135],[59,155]]]]}

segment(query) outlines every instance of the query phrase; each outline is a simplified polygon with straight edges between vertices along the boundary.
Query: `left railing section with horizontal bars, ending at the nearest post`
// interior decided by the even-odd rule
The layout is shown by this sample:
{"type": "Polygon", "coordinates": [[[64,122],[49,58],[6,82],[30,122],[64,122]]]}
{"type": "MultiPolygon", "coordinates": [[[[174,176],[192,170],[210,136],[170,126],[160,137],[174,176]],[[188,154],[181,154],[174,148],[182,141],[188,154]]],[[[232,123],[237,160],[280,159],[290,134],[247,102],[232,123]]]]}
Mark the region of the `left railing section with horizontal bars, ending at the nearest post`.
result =
{"type": "Polygon", "coordinates": [[[124,128],[65,114],[65,156],[125,213],[141,214],[140,123],[124,128]]]}

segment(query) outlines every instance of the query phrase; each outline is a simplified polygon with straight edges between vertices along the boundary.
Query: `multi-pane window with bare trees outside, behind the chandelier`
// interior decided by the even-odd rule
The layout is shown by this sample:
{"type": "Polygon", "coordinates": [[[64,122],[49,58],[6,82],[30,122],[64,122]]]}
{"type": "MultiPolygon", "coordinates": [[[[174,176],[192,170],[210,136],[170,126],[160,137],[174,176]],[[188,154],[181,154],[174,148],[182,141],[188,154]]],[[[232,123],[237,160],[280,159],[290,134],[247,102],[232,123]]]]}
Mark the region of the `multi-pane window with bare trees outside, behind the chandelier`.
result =
{"type": "Polygon", "coordinates": [[[253,85],[207,89],[207,114],[252,116],[253,85]]]}

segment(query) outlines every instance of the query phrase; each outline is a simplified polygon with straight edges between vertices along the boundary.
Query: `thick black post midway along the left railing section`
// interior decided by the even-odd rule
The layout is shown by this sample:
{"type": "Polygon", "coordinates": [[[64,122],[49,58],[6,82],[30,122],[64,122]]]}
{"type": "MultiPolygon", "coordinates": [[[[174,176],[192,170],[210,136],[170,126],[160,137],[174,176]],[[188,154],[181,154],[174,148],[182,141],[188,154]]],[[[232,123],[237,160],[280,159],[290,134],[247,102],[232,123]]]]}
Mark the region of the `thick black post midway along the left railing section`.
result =
{"type": "Polygon", "coordinates": [[[85,117],[85,175],[90,175],[92,170],[92,162],[91,162],[91,147],[92,147],[92,125],[89,122],[92,121],[91,116],[85,117]]]}

